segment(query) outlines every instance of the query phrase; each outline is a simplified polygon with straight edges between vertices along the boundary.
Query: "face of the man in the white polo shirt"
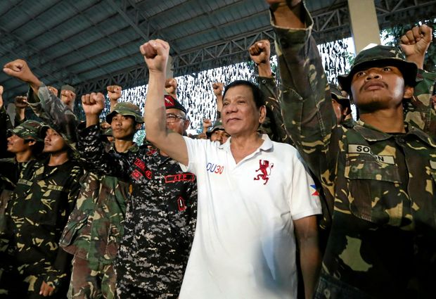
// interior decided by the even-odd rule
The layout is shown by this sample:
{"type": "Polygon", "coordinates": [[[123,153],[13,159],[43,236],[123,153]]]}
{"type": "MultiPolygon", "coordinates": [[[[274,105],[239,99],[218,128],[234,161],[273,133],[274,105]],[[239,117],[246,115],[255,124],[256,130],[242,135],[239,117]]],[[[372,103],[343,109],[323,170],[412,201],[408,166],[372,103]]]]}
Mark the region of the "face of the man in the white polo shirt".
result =
{"type": "Polygon", "coordinates": [[[238,85],[226,91],[223,98],[222,122],[231,136],[256,132],[265,118],[265,107],[257,109],[250,87],[238,85]]]}

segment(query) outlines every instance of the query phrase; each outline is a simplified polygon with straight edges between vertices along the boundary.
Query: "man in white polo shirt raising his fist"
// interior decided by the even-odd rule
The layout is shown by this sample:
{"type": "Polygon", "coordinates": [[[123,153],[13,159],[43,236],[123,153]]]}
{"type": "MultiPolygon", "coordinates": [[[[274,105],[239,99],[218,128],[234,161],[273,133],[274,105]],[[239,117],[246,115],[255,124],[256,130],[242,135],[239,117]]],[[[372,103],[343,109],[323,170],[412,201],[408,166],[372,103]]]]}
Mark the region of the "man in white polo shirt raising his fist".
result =
{"type": "Polygon", "coordinates": [[[294,231],[310,298],[321,262],[314,216],[321,205],[295,148],[257,133],[265,117],[257,86],[226,87],[225,144],[189,139],[165,128],[169,45],[153,40],[141,53],[150,71],[147,138],[198,179],[198,222],[180,298],[296,298],[294,231]]]}

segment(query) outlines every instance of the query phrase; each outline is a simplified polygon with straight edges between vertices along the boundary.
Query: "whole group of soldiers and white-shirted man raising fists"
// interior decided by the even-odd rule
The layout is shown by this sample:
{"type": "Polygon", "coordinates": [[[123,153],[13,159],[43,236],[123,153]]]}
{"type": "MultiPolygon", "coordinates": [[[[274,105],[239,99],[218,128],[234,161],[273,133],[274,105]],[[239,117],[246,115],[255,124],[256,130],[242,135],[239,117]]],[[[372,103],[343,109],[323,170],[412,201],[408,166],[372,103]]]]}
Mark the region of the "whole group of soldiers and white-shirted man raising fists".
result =
{"type": "Polygon", "coordinates": [[[113,85],[102,123],[101,92],[81,122],[74,89],[4,65],[29,90],[11,120],[0,87],[0,298],[434,298],[432,29],[367,47],[335,86],[302,1],[266,2],[281,86],[255,42],[257,84],[214,83],[198,136],[160,39],[140,46],[144,115],[113,85]]]}

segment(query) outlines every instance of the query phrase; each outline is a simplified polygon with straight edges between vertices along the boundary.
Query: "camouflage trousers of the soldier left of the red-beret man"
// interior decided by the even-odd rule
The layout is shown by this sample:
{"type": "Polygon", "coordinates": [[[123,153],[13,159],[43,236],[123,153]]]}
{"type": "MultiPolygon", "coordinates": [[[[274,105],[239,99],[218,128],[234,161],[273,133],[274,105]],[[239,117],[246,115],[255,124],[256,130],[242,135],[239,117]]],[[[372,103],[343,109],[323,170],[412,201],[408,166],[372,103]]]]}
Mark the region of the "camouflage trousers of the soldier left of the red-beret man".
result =
{"type": "Polygon", "coordinates": [[[100,264],[98,270],[94,270],[89,267],[88,260],[75,256],[72,260],[72,275],[68,298],[116,298],[116,281],[117,276],[112,264],[100,264]]]}

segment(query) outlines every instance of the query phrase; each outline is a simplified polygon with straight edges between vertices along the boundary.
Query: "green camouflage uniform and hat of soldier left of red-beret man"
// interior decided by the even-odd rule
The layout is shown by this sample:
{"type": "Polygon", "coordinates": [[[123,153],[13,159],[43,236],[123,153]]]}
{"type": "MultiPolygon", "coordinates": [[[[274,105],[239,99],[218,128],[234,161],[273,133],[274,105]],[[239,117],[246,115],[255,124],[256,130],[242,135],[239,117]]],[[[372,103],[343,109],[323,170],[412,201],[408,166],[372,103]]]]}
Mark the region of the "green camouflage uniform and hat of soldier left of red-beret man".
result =
{"type": "MultiPolygon", "coordinates": [[[[72,110],[44,85],[39,89],[37,97],[32,92],[30,95],[30,106],[35,113],[56,127],[75,148],[79,120],[72,110]]],[[[139,108],[134,106],[129,109],[130,105],[133,104],[118,103],[108,118],[112,119],[115,113],[120,113],[136,116],[136,122],[143,122],[139,108]]],[[[138,150],[139,147],[134,144],[127,153],[138,150]]],[[[105,151],[117,153],[113,144],[106,147],[105,151]]],[[[82,165],[87,168],[88,162],[83,162],[82,165]]],[[[77,204],[60,238],[60,246],[74,255],[70,286],[73,298],[115,297],[116,275],[113,262],[124,232],[127,198],[129,184],[122,179],[91,171],[86,171],[80,179],[77,204]]]]}

